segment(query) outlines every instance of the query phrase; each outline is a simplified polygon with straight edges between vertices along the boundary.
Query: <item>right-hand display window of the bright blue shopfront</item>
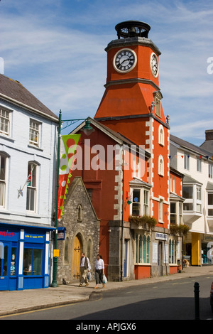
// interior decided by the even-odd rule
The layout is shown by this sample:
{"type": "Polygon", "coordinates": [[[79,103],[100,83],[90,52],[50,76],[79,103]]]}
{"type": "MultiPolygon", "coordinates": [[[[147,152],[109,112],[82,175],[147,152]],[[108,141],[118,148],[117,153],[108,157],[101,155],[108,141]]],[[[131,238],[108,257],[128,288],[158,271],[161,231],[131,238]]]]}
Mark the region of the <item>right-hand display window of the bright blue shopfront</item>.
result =
{"type": "Polygon", "coordinates": [[[24,249],[23,275],[41,275],[42,274],[42,256],[43,250],[37,248],[24,249]]]}

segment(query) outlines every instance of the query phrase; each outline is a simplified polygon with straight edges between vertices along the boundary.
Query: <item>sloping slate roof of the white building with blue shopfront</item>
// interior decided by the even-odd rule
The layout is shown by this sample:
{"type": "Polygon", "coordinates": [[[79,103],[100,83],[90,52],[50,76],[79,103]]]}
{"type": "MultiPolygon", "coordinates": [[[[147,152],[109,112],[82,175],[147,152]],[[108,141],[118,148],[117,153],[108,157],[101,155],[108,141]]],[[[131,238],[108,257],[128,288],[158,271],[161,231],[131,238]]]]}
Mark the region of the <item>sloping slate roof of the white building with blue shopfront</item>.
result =
{"type": "Polygon", "coordinates": [[[51,112],[42,102],[40,102],[31,92],[29,92],[20,82],[0,74],[0,97],[13,104],[22,105],[25,109],[43,114],[43,117],[54,119],[58,122],[58,116],[51,112]]]}

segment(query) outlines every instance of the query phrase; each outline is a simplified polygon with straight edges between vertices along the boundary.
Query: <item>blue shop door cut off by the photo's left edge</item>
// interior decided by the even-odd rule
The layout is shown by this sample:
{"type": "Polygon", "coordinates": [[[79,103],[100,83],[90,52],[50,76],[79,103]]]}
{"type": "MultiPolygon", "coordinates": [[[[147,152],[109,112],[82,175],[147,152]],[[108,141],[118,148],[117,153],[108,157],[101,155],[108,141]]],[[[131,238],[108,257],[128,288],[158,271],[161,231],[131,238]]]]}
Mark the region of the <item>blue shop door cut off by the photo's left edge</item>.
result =
{"type": "Polygon", "coordinates": [[[10,244],[7,242],[1,243],[1,258],[0,258],[0,290],[9,290],[9,252],[10,244]]]}

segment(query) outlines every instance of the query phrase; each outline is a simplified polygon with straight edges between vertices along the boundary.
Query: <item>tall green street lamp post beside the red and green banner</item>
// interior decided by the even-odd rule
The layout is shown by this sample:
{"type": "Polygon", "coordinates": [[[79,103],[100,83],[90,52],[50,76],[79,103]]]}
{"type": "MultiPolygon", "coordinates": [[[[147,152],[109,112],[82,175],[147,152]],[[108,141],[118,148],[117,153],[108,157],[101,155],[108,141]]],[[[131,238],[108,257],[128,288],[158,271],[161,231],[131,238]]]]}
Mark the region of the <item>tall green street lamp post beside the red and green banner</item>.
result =
{"type": "Polygon", "coordinates": [[[57,284],[57,263],[58,263],[58,254],[55,254],[57,250],[57,237],[58,237],[58,190],[59,190],[59,166],[60,166],[60,134],[62,130],[62,123],[66,122],[66,126],[63,129],[66,129],[68,126],[75,124],[79,121],[85,121],[85,125],[82,129],[84,134],[89,136],[94,129],[90,126],[89,119],[65,119],[62,121],[62,113],[61,110],[59,112],[59,122],[58,122],[58,151],[57,151],[57,173],[56,173],[56,196],[55,196],[55,235],[54,235],[54,249],[53,249],[53,281],[51,286],[53,288],[58,287],[57,284]]]}

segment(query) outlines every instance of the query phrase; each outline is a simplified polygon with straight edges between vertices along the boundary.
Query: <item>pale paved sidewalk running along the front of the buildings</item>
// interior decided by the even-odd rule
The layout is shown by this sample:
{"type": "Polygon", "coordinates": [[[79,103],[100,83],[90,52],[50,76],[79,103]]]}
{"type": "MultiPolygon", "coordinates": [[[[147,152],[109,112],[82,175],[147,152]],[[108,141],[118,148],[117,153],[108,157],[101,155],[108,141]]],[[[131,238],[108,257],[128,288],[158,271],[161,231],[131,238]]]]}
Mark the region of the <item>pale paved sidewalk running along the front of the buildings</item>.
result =
{"type": "MultiPolygon", "coordinates": [[[[142,284],[158,283],[160,281],[170,281],[182,279],[184,277],[193,277],[209,275],[213,281],[213,266],[190,266],[184,268],[181,273],[153,277],[151,279],[139,279],[122,282],[108,282],[104,289],[122,289],[128,286],[137,286],[142,284]]],[[[87,287],[79,287],[78,284],[60,285],[57,288],[49,287],[47,289],[32,289],[23,291],[0,291],[0,316],[6,316],[13,313],[38,310],[53,306],[60,306],[79,301],[87,301],[89,298],[95,298],[97,293],[102,290],[94,290],[95,282],[92,281],[87,287]]],[[[210,289],[210,288],[209,288],[210,289]]]]}

